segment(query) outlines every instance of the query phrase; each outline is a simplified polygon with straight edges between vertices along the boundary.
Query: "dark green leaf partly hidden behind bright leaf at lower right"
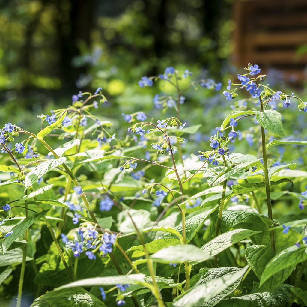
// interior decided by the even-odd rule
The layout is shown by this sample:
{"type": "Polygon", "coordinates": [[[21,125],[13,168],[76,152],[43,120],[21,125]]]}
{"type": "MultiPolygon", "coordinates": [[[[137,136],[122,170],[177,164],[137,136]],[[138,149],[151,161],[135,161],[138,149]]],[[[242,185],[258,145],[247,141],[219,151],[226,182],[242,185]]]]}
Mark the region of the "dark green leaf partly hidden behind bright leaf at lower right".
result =
{"type": "MultiPolygon", "coordinates": [[[[247,262],[255,272],[256,276],[261,278],[261,275],[265,269],[265,266],[267,263],[275,256],[274,251],[265,245],[252,245],[250,247],[247,247],[245,250],[245,257],[247,259],[247,262]]],[[[277,273],[275,273],[273,276],[268,278],[266,282],[262,285],[262,289],[267,291],[273,291],[276,287],[282,284],[286,278],[288,278],[293,271],[294,266],[288,266],[277,273]]]]}

